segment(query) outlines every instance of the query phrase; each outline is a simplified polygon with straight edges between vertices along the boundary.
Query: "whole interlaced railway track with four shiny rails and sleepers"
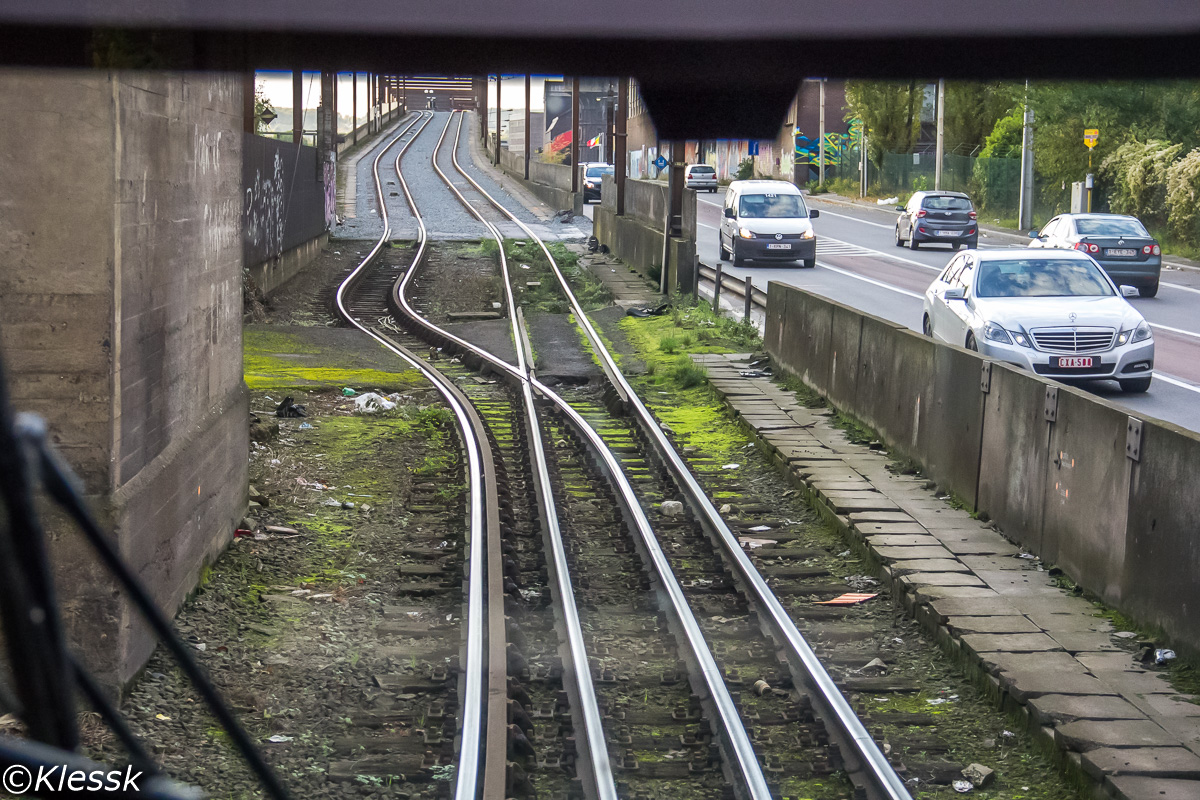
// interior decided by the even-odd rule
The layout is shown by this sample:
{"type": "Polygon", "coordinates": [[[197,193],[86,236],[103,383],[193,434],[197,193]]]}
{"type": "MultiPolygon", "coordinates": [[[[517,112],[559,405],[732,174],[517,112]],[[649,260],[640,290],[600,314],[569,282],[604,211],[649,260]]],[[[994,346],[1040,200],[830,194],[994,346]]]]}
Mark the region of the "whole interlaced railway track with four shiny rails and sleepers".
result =
{"type": "MultiPolygon", "coordinates": [[[[620,374],[550,248],[458,164],[461,113],[445,118],[430,167],[498,245],[515,357],[422,313],[436,300],[419,276],[437,245],[402,160],[433,120],[419,116],[376,158],[384,235],[337,302],[347,320],[421,369],[460,425],[470,525],[455,796],[767,800],[790,777],[836,781],[836,772],[845,796],[908,798],[620,374]],[[452,174],[439,163],[448,138],[452,174]],[[392,151],[419,227],[412,248],[385,248],[379,162],[392,151]],[[554,272],[604,371],[604,392],[556,391],[538,379],[505,257],[502,227],[512,225],[554,272]],[[466,367],[498,380],[470,379],[466,367]],[[683,500],[686,512],[647,511],[665,499],[683,500]]],[[[776,570],[775,583],[820,577],[776,570]]]]}

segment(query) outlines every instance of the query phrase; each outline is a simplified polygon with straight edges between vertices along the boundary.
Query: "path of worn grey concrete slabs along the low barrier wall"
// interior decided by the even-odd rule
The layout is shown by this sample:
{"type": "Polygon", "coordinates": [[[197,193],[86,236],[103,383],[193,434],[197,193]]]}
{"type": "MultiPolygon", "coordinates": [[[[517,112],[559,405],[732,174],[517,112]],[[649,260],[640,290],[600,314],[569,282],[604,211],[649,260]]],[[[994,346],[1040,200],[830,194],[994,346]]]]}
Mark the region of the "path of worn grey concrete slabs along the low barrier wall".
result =
{"type": "MultiPolygon", "coordinates": [[[[737,355],[696,360],[714,374],[748,366],[737,355]]],[[[802,407],[769,378],[740,379],[737,393],[722,383],[714,389],[810,505],[886,565],[878,577],[895,599],[948,654],[988,676],[997,703],[1055,734],[1048,741],[1068,754],[1073,775],[1111,798],[1200,799],[1200,780],[1186,780],[1200,778],[1200,705],[1160,670],[1140,668],[1091,602],[924,480],[850,443],[828,413],[802,407]]]]}

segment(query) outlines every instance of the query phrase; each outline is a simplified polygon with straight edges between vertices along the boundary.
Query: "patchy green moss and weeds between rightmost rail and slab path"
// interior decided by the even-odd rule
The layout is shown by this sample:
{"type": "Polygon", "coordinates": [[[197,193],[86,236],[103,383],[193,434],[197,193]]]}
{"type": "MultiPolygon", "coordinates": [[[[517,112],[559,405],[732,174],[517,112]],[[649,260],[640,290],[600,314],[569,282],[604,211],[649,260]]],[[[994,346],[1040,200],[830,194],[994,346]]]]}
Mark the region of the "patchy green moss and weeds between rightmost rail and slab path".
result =
{"type": "MultiPolygon", "coordinates": [[[[803,545],[828,554],[805,564],[827,567],[835,579],[869,573],[870,567],[852,554],[840,534],[822,524],[800,501],[798,493],[761,455],[726,405],[706,384],[694,383],[692,371],[685,368],[684,360],[690,363],[689,353],[755,349],[757,339],[749,332],[738,335],[736,326],[737,323],[712,320],[709,309],[697,313],[680,307],[662,317],[625,318],[620,331],[647,363],[644,377],[631,377],[635,387],[655,416],[670,427],[677,445],[688,453],[697,477],[718,504],[731,504],[731,513],[740,519],[755,518],[752,509],[768,509],[767,518],[792,522],[793,530],[799,534],[793,546],[803,545]],[[701,331],[707,335],[702,336],[701,331]],[[722,335],[725,331],[730,333],[722,335]]],[[[816,396],[800,399],[812,407],[824,404],[816,396]]],[[[875,438],[865,428],[859,435],[868,441],[875,438]]],[[[772,534],[762,535],[769,537],[772,534]]],[[[781,596],[781,600],[818,654],[828,660],[835,679],[853,676],[853,669],[877,656],[887,663],[888,678],[902,686],[900,691],[864,688],[850,692],[848,699],[876,740],[890,753],[893,763],[912,765],[905,777],[914,798],[962,796],[948,786],[949,778],[958,769],[974,762],[996,770],[996,782],[968,796],[989,800],[1074,800],[1081,796],[1036,750],[1032,736],[997,712],[958,667],[946,661],[919,626],[888,602],[886,593],[868,603],[846,608],[840,616],[839,625],[858,630],[865,648],[854,640],[822,642],[821,631],[829,616],[824,612],[808,618],[823,608],[812,606],[811,597],[781,596]],[[934,774],[920,772],[919,765],[934,774]],[[922,775],[924,777],[913,780],[922,775]]],[[[821,799],[841,796],[842,787],[836,780],[787,780],[782,788],[785,796],[821,799]]]]}

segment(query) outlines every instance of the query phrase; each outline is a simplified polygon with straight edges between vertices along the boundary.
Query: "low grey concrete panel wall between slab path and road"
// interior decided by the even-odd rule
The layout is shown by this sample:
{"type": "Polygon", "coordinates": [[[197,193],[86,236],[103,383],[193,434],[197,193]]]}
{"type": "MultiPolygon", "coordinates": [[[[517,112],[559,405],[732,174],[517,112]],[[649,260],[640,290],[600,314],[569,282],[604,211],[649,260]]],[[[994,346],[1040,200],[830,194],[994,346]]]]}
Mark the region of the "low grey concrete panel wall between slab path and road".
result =
{"type": "MultiPolygon", "coordinates": [[[[599,218],[598,218],[599,219],[599,218]]],[[[772,283],[767,351],[1004,534],[1200,654],[1200,434],[772,283]],[[1046,387],[1057,419],[1046,421],[1046,387]]]]}

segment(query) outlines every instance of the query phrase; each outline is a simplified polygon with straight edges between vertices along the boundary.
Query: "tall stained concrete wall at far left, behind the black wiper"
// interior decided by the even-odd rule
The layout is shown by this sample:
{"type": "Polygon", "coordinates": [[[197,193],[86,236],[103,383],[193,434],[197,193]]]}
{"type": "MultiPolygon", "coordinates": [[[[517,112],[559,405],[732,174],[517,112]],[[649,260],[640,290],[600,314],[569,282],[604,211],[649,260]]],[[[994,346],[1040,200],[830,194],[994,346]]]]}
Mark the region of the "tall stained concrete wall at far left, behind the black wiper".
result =
{"type": "MultiPolygon", "coordinates": [[[[8,72],[0,348],[167,612],[246,501],[241,78],[8,72]]],[[[72,644],[108,686],[152,650],[82,539],[50,527],[72,644]]]]}

